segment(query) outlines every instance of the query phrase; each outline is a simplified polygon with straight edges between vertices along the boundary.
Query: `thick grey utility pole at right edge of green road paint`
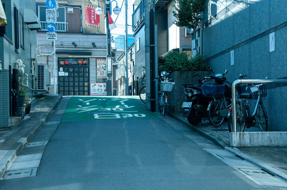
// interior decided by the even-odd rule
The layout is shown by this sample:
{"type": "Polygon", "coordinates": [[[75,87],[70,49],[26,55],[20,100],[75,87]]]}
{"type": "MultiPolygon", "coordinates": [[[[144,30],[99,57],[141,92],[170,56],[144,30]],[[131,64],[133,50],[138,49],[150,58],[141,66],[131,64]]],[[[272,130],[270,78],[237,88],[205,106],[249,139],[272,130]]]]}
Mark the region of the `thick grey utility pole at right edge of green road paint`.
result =
{"type": "Polygon", "coordinates": [[[150,111],[150,0],[144,0],[145,62],[146,62],[146,110],[150,111]]]}

